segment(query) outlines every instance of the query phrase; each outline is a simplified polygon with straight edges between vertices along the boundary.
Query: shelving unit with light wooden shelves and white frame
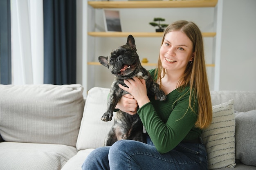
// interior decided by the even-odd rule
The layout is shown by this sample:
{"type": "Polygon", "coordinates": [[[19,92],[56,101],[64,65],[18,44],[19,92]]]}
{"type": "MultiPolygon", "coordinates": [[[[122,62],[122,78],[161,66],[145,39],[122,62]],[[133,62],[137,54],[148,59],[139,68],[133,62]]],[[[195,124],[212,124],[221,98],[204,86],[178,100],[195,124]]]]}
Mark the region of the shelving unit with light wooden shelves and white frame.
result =
{"type": "MultiPolygon", "coordinates": [[[[95,9],[138,9],[138,8],[205,8],[205,7],[217,7],[218,0],[166,0],[166,1],[88,1],[86,4],[86,10],[89,11],[87,18],[90,20],[89,27],[86,28],[86,40],[90,39],[90,43],[88,44],[87,50],[88,56],[94,56],[94,52],[96,49],[94,49],[95,45],[93,45],[95,38],[108,38],[108,37],[127,37],[128,35],[133,35],[134,37],[142,37],[142,38],[152,38],[152,37],[162,37],[163,33],[156,33],[156,32],[101,32],[101,31],[94,31],[95,30],[95,9]],[[90,37],[90,38],[88,38],[90,37]],[[91,42],[92,41],[92,42],[91,42]],[[90,47],[89,47],[90,46],[90,47]]],[[[217,9],[217,8],[216,8],[217,9]]],[[[86,12],[87,12],[86,11],[86,12]]],[[[216,22],[216,19],[214,19],[214,22],[216,22]]],[[[202,32],[203,37],[209,37],[209,38],[216,38],[216,32],[202,32]]],[[[215,48],[215,47],[213,47],[215,48]]],[[[214,49],[213,51],[216,51],[214,49]]],[[[214,54],[216,55],[216,54],[214,54]]],[[[101,64],[99,62],[91,62],[93,60],[87,60],[86,64],[89,66],[100,66],[101,64]],[[90,61],[90,62],[88,62],[90,61]]],[[[156,66],[156,63],[141,63],[142,66],[156,66]]],[[[206,64],[207,67],[214,67],[216,69],[215,64],[206,64]]],[[[217,66],[218,67],[218,66],[217,66]]],[[[92,68],[92,67],[90,67],[92,68]]],[[[87,75],[88,71],[86,71],[87,75]]],[[[90,78],[86,77],[86,84],[88,84],[88,79],[90,79],[90,82],[93,82],[94,76],[90,76],[90,78]]],[[[93,84],[90,83],[89,86],[86,85],[89,89],[93,86],[93,84]]],[[[88,89],[87,89],[88,90],[88,89]]]]}

